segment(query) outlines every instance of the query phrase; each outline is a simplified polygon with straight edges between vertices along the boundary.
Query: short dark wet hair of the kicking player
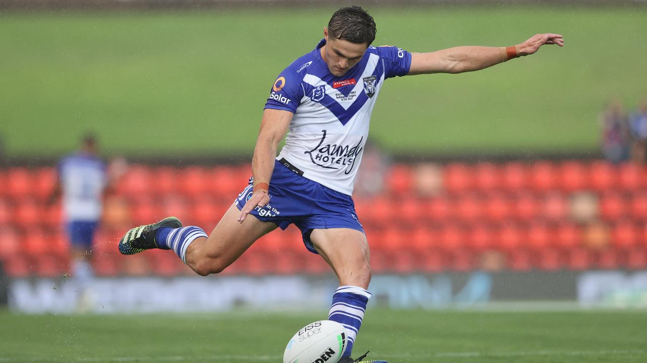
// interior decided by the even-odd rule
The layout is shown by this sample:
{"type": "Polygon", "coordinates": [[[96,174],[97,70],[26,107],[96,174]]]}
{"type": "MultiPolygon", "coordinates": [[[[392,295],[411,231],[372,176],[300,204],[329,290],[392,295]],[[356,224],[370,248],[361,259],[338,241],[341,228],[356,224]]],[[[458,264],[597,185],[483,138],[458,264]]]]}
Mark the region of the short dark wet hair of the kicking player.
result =
{"type": "Polygon", "coordinates": [[[328,36],[355,44],[371,45],[375,40],[375,21],[359,6],[340,8],[328,22],[328,36]]]}

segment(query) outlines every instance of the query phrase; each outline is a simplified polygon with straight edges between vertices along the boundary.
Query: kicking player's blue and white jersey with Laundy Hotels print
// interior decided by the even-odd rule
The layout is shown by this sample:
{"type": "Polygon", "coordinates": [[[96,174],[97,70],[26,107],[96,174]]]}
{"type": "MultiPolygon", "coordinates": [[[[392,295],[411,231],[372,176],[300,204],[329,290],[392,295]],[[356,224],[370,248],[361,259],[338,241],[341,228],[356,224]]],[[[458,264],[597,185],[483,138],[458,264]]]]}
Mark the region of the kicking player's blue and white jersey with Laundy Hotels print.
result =
{"type": "Polygon", "coordinates": [[[281,72],[265,108],[294,113],[277,160],[351,195],[384,79],[406,75],[411,54],[397,47],[369,47],[353,68],[336,77],[322,59],[323,45],[325,39],[281,72]]]}

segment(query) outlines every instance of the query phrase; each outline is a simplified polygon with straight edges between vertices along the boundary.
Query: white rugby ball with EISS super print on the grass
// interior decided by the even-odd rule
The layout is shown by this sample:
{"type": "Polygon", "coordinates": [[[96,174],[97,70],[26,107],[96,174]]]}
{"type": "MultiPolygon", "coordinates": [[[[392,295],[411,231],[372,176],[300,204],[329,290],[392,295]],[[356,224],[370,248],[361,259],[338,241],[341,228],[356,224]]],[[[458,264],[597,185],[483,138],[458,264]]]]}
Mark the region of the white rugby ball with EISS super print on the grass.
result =
{"type": "Polygon", "coordinates": [[[283,363],[337,363],[347,343],[342,324],[320,320],[296,332],[285,347],[283,363]]]}

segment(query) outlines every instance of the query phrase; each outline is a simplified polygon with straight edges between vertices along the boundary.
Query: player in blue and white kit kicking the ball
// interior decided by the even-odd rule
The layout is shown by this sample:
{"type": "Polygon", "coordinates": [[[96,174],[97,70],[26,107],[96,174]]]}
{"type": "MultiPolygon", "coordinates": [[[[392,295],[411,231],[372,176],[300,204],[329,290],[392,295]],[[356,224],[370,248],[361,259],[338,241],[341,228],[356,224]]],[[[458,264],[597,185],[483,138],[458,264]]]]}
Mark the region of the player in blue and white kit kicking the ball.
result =
{"type": "MultiPolygon", "coordinates": [[[[375,32],[373,17],[362,8],[341,8],[323,28],[324,39],[314,50],[279,74],[265,103],[252,159],[253,178],[211,236],[199,227],[182,228],[177,218],[170,217],[127,231],[119,243],[121,253],[172,249],[193,271],[206,276],[223,271],[264,234],[294,223],[307,249],[320,254],[339,278],[329,320],[347,329],[349,343],[340,362],[364,358],[353,360],[351,351],[371,297],[367,291],[371,267],[351,194],[384,81],[470,72],[533,54],[542,45],[564,45],[559,34],[537,34],[512,47],[410,53],[398,47],[372,47],[375,32]]],[[[406,110],[398,121],[406,125],[406,110]]]]}

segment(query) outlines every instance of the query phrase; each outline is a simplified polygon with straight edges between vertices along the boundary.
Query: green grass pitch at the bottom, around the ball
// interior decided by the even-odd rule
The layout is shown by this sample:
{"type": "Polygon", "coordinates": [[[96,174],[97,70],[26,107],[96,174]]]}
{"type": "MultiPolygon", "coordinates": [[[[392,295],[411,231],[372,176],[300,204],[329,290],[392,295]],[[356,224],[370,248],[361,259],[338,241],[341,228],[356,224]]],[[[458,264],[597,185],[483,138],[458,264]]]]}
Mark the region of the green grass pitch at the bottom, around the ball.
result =
{"type": "MultiPolygon", "coordinates": [[[[0,362],[281,362],[320,313],[0,313],[0,362]]],[[[404,362],[645,362],[644,312],[367,312],[355,353],[404,362]]]]}

